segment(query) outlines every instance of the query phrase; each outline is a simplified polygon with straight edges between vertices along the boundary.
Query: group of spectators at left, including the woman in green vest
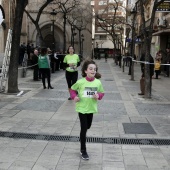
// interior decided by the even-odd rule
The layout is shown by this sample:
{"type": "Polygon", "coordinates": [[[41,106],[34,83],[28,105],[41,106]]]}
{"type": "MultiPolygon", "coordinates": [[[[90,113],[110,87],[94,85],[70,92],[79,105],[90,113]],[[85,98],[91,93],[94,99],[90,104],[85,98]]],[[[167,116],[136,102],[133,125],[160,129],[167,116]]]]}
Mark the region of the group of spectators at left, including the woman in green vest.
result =
{"type": "Polygon", "coordinates": [[[45,78],[47,77],[48,88],[53,89],[50,84],[50,76],[51,73],[55,71],[59,71],[60,69],[65,69],[63,67],[63,59],[64,54],[61,51],[52,51],[50,48],[40,48],[39,46],[34,47],[34,44],[25,44],[22,43],[19,49],[19,60],[18,64],[22,66],[22,62],[24,59],[24,55],[27,54],[27,59],[29,61],[28,65],[31,66],[33,69],[33,80],[40,81],[42,79],[43,87],[46,88],[45,85],[45,78]],[[46,49],[46,50],[45,50],[46,49]],[[42,51],[45,50],[46,52],[42,51]],[[40,56],[41,60],[43,60],[43,56],[46,58],[45,61],[48,61],[48,65],[43,65],[40,63],[40,56]],[[43,68],[42,68],[43,67],[43,68]],[[44,67],[46,67],[46,71],[44,72],[44,67]],[[48,68],[48,69],[47,69],[48,68]]]}

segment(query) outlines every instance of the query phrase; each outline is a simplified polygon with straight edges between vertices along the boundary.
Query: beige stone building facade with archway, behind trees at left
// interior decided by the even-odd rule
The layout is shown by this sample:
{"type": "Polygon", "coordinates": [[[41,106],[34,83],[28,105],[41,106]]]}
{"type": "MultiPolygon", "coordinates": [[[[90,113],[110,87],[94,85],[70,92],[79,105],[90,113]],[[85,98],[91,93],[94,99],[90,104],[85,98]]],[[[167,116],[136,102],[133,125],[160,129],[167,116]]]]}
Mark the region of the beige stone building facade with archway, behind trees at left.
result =
{"type": "MultiPolygon", "coordinates": [[[[43,0],[29,0],[29,5],[27,6],[26,10],[30,13],[30,15],[35,19],[37,16],[38,9],[42,6],[43,0]]],[[[85,3],[86,8],[88,8],[87,12],[90,11],[91,0],[83,0],[82,3],[85,3]]],[[[5,10],[5,24],[6,29],[2,28],[0,26],[0,38],[3,40],[3,43],[0,44],[0,52],[4,52],[5,49],[5,43],[6,43],[6,37],[7,32],[9,28],[12,28],[13,26],[13,16],[15,11],[15,1],[6,1],[1,0],[0,3],[4,7],[5,10]]],[[[43,35],[43,38],[47,44],[47,46],[51,46],[53,43],[53,33],[52,33],[52,21],[50,20],[50,12],[53,9],[56,9],[54,4],[48,5],[44,12],[42,13],[40,20],[39,20],[39,26],[43,35]]],[[[67,16],[68,17],[68,16],[67,16]]],[[[55,40],[55,49],[57,51],[60,51],[63,49],[64,45],[64,38],[63,38],[63,14],[58,13],[56,15],[56,20],[54,22],[54,40],[55,40]]],[[[75,50],[76,53],[80,52],[80,45],[79,45],[79,34],[78,30],[75,29],[75,37],[74,37],[74,44],[75,44],[75,50]]],[[[89,20],[89,23],[86,24],[86,28],[81,30],[81,35],[84,36],[84,41],[81,41],[81,48],[83,48],[83,56],[84,57],[91,57],[91,49],[92,49],[92,33],[91,33],[91,20],[89,20]],[[83,35],[82,35],[83,34],[83,35]]],[[[21,31],[21,37],[20,42],[23,43],[31,43],[34,44],[34,46],[40,46],[40,40],[37,33],[37,30],[35,28],[35,25],[32,23],[30,18],[24,13],[23,17],[23,23],[22,23],[22,31],[21,31]]],[[[66,49],[71,44],[71,26],[66,22],[66,49]]]]}

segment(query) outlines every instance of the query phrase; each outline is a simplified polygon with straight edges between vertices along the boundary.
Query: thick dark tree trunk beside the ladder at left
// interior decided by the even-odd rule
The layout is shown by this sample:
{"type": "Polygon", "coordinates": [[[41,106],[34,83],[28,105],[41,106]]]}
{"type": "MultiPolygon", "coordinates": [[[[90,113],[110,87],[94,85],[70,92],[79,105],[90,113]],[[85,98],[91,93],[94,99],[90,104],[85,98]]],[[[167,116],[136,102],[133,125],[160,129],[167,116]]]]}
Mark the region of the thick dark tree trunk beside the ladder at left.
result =
{"type": "Polygon", "coordinates": [[[8,93],[17,93],[18,90],[18,59],[20,35],[24,9],[28,0],[16,0],[15,19],[12,34],[11,57],[9,65],[8,93]]]}

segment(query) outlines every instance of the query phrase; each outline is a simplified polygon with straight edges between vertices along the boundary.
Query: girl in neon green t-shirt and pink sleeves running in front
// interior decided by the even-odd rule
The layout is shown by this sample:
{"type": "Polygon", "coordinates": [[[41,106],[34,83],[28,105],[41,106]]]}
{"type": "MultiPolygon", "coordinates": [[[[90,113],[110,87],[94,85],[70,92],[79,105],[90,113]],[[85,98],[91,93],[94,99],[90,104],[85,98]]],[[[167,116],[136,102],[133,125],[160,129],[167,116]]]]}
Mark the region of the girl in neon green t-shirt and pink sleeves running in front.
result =
{"type": "Polygon", "coordinates": [[[82,66],[83,78],[71,87],[71,98],[76,102],[76,111],[80,119],[80,154],[82,159],[88,160],[86,151],[86,132],[90,129],[93,114],[97,113],[97,100],[104,96],[103,86],[97,72],[97,65],[93,60],[86,60],[82,66]]]}

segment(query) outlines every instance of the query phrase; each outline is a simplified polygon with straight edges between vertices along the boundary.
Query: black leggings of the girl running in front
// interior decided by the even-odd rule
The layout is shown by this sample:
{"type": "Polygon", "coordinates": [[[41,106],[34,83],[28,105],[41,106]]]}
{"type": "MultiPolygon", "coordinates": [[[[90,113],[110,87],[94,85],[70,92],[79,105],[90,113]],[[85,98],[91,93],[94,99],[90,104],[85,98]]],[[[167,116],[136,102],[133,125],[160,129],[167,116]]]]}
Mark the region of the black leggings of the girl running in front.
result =
{"type": "Polygon", "coordinates": [[[87,129],[90,129],[92,120],[93,120],[93,113],[89,114],[82,114],[79,113],[80,119],[80,143],[81,143],[81,150],[86,151],[86,133],[87,129]]]}

